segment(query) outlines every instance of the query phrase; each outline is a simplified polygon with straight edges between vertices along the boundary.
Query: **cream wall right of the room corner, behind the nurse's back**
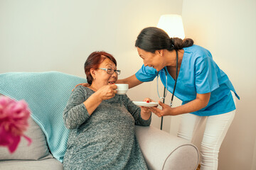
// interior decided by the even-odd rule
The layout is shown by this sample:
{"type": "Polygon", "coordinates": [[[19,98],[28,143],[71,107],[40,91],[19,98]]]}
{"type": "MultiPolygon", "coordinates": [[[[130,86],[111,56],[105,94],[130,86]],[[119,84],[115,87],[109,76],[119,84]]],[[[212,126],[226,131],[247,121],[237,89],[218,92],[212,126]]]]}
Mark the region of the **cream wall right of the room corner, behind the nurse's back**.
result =
{"type": "Polygon", "coordinates": [[[186,37],[212,52],[241,98],[220,148],[220,170],[256,169],[255,9],[255,0],[183,0],[186,37]]]}

